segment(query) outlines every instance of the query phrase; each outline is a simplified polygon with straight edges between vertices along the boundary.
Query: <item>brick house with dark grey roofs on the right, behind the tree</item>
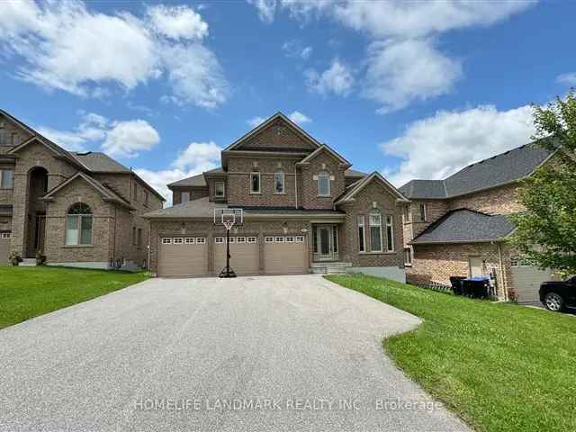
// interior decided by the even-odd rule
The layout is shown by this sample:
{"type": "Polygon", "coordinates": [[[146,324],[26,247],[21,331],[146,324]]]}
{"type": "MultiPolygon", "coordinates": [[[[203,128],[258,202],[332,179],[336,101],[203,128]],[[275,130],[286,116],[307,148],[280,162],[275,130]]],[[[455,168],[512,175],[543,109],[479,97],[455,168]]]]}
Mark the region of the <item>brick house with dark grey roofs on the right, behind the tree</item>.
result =
{"type": "Polygon", "coordinates": [[[508,216],[522,211],[518,182],[546,163],[550,153],[534,144],[466,166],[444,180],[401,186],[404,257],[412,284],[450,284],[450,276],[495,276],[502,300],[537,302],[543,271],[518,257],[507,238],[508,216]]]}

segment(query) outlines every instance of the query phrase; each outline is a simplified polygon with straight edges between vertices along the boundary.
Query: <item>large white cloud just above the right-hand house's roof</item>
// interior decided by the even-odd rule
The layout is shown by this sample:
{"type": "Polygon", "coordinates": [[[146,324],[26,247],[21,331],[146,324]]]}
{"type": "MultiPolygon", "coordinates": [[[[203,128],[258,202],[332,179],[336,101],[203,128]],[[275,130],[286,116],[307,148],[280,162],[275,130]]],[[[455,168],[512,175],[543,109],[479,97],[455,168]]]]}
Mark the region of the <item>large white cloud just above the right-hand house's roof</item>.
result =
{"type": "Polygon", "coordinates": [[[530,106],[437,112],[410,123],[401,137],[382,144],[385,154],[401,158],[399,169],[383,172],[397,186],[417,178],[445,178],[473,162],[526,144],[534,131],[530,106]]]}

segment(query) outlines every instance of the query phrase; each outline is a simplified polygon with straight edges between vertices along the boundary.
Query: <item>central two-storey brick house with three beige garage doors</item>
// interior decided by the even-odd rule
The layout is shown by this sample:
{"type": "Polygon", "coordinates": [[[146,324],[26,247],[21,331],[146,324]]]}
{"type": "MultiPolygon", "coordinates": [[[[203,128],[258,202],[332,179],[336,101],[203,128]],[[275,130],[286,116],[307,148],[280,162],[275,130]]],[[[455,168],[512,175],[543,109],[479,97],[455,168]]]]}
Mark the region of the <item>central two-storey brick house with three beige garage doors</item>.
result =
{"type": "Polygon", "coordinates": [[[144,215],[159,276],[220,274],[226,231],[214,213],[241,209],[229,245],[238,275],[358,271],[404,280],[408,200],[280,112],[225,148],[220,167],[168,187],[174,205],[144,215]]]}

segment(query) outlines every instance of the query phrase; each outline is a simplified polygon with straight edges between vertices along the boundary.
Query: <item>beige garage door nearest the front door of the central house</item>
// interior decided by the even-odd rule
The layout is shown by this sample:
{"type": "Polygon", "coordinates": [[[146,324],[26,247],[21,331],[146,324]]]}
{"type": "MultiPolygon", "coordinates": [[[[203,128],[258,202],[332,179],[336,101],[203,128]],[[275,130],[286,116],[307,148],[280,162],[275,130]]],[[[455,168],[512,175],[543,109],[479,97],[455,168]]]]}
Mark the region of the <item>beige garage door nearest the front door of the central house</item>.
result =
{"type": "Polygon", "coordinates": [[[303,236],[266,236],[264,271],[268,275],[308,273],[308,247],[303,236]]]}

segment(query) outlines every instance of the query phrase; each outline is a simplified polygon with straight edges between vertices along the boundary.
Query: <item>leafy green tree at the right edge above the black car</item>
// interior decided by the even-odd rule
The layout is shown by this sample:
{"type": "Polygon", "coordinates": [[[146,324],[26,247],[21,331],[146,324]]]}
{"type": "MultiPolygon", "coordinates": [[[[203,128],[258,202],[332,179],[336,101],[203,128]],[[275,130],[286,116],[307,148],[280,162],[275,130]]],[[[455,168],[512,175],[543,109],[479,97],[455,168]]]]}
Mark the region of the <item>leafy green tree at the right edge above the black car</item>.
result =
{"type": "Polygon", "coordinates": [[[526,211],[512,217],[511,243],[536,266],[576,274],[576,95],[543,108],[533,105],[536,145],[554,156],[523,180],[518,193],[526,211]]]}

